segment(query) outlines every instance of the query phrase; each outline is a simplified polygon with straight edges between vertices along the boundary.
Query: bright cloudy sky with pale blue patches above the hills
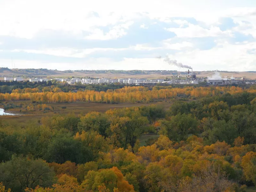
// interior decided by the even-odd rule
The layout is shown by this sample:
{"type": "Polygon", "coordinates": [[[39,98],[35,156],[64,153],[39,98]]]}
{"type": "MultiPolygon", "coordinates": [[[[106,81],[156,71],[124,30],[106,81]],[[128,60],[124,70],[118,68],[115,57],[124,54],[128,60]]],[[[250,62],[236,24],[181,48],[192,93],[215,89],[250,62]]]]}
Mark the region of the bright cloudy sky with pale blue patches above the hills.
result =
{"type": "Polygon", "coordinates": [[[256,71],[256,1],[0,0],[0,67],[187,70],[166,56],[256,71]]]}

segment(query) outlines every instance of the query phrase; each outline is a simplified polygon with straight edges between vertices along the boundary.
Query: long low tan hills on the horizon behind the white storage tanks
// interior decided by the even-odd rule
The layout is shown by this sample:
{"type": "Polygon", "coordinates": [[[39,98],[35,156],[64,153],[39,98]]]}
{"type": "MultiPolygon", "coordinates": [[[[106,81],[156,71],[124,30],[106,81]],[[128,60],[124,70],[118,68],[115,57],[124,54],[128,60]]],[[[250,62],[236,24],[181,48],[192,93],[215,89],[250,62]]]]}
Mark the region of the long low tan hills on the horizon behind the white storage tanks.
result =
{"type": "MultiPolygon", "coordinates": [[[[236,72],[236,71],[219,71],[221,76],[224,77],[242,77],[246,76],[248,79],[255,79],[255,71],[245,71],[245,72],[236,72]]],[[[185,76],[187,71],[167,71],[167,70],[50,70],[45,68],[40,69],[9,69],[9,68],[0,68],[0,76],[3,78],[6,77],[24,77],[24,78],[67,78],[67,77],[108,77],[108,78],[166,78],[171,76],[185,76]]],[[[198,77],[208,77],[212,76],[214,71],[193,71],[198,77]]]]}

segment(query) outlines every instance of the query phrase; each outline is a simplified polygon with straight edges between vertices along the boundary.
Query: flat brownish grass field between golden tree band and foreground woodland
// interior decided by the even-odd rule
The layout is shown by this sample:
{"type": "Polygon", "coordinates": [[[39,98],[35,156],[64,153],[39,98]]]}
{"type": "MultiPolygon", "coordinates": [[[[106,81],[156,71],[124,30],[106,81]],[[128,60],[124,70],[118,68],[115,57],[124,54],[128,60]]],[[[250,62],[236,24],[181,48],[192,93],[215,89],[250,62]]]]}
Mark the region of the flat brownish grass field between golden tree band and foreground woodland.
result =
{"type": "MultiPolygon", "coordinates": [[[[31,101],[11,101],[12,103],[31,103],[31,101]]],[[[113,108],[124,108],[124,107],[134,107],[134,106],[142,106],[142,105],[151,105],[151,104],[159,104],[164,105],[164,107],[170,108],[172,105],[171,99],[162,100],[162,102],[150,102],[150,103],[119,103],[119,104],[107,104],[107,103],[88,103],[88,102],[75,102],[75,103],[47,103],[47,105],[53,107],[54,109],[50,112],[44,111],[24,111],[20,108],[14,108],[6,110],[7,113],[21,114],[18,116],[0,116],[0,119],[8,119],[8,120],[18,120],[18,122],[25,122],[30,119],[40,119],[43,116],[53,116],[56,114],[69,114],[74,113],[75,115],[84,115],[91,111],[99,111],[104,112],[113,108]],[[65,109],[62,107],[66,107],[65,109]]],[[[3,106],[1,107],[3,108],[3,106]]]]}

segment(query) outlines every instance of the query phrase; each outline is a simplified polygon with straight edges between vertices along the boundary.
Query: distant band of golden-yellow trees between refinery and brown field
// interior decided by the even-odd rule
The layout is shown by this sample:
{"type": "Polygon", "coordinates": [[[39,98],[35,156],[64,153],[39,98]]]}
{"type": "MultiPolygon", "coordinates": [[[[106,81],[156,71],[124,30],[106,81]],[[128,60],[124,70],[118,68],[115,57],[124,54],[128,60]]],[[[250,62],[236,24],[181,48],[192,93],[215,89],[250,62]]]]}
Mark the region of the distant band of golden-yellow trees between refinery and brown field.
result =
{"type": "Polygon", "coordinates": [[[241,87],[184,87],[172,88],[165,86],[156,86],[152,90],[148,87],[135,86],[121,89],[108,89],[106,92],[97,91],[77,91],[77,92],[62,92],[58,87],[52,86],[52,89],[44,87],[43,92],[39,89],[16,89],[12,93],[0,93],[0,100],[31,100],[32,102],[52,103],[52,102],[104,102],[104,103],[134,103],[134,102],[151,102],[158,99],[167,98],[203,98],[214,97],[223,94],[236,93],[256,93],[255,89],[244,90],[241,87]],[[38,91],[38,92],[37,92],[38,91]]]}

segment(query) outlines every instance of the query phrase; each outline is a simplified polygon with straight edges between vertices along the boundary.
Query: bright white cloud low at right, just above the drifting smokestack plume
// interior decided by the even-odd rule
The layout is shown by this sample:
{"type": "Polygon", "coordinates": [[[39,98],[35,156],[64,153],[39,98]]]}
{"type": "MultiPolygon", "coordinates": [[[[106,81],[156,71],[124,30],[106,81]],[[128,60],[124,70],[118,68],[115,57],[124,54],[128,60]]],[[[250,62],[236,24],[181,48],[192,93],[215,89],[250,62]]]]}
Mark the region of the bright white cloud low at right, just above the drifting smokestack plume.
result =
{"type": "Polygon", "coordinates": [[[255,70],[253,63],[256,55],[248,54],[248,50],[256,48],[256,43],[228,44],[219,43],[210,50],[193,50],[169,55],[180,62],[191,65],[193,70],[255,70]]]}

